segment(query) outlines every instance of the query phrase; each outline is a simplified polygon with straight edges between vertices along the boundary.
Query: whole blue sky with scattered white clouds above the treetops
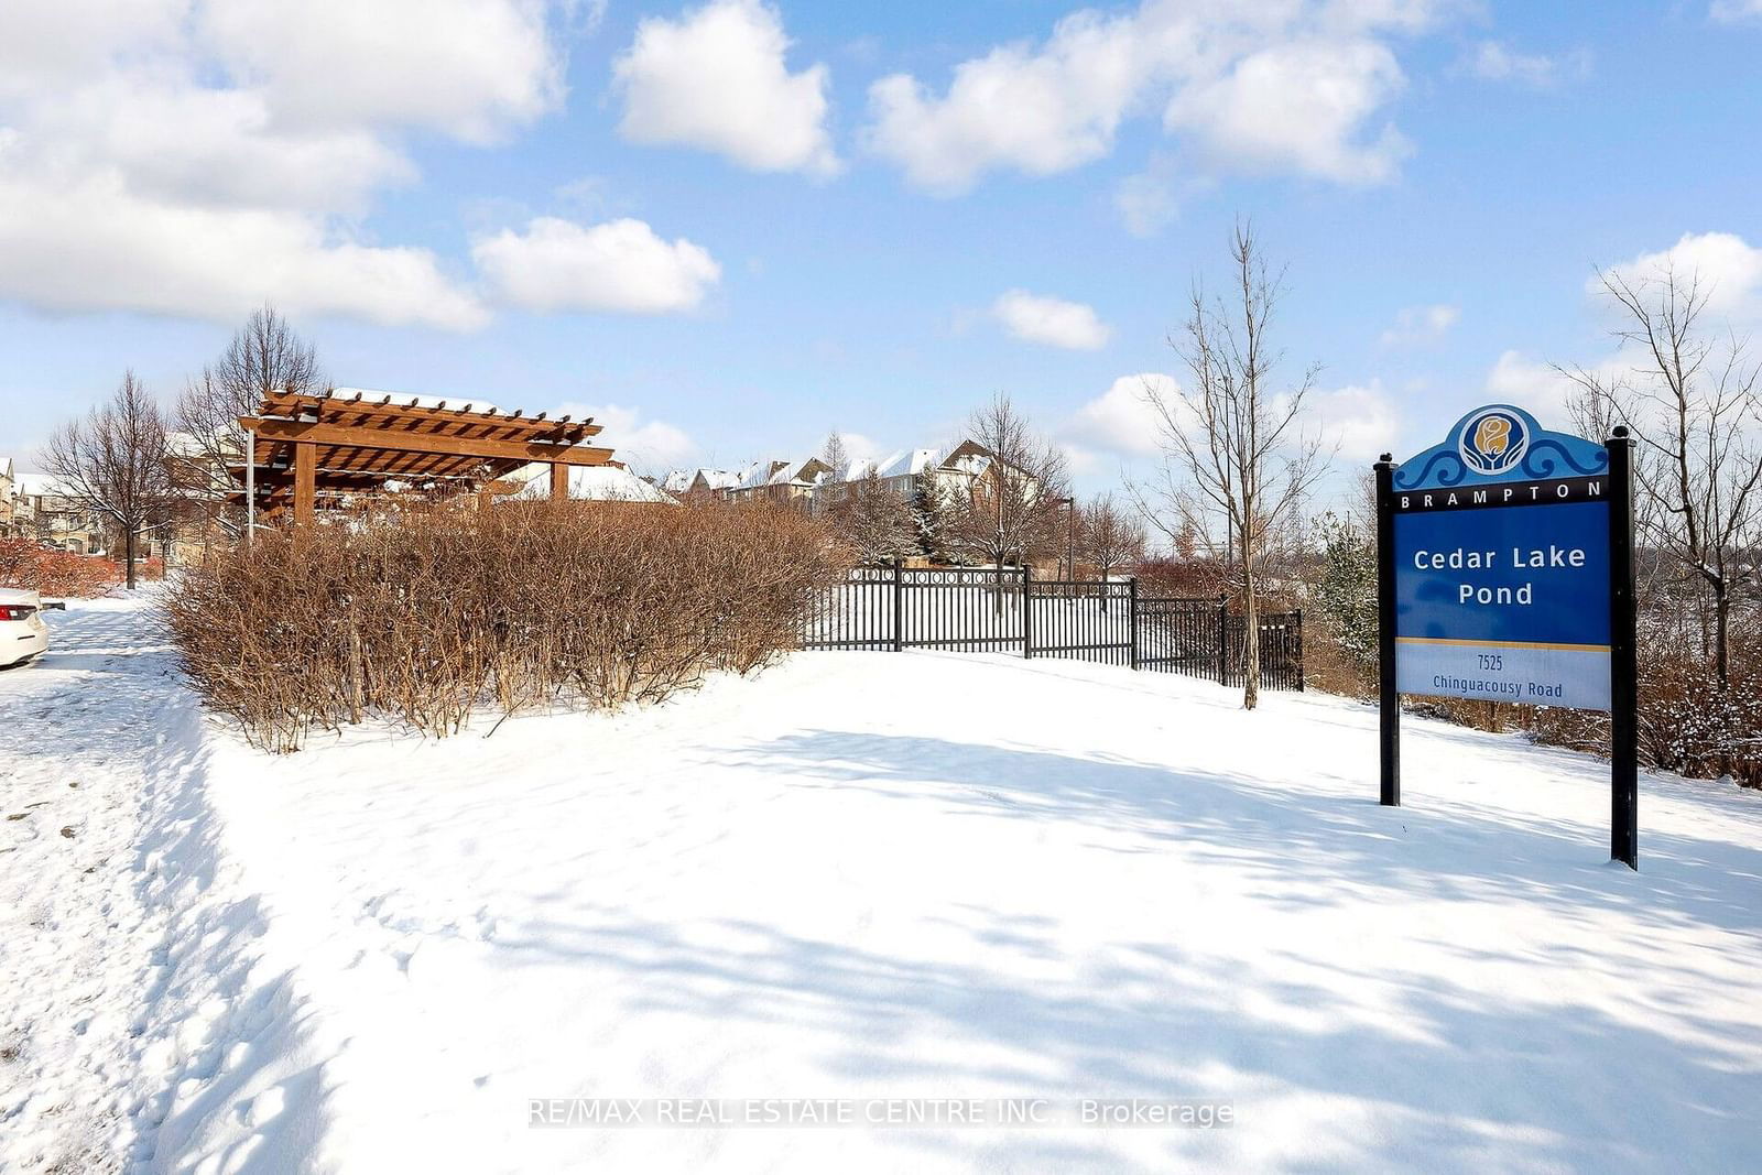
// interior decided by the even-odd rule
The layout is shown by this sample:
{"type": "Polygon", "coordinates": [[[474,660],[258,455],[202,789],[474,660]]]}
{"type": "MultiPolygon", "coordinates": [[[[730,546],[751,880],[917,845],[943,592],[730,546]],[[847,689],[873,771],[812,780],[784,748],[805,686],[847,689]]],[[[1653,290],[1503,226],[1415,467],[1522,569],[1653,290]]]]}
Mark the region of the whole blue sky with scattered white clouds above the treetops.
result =
{"type": "Polygon", "coordinates": [[[1006,391],[1099,491],[1239,215],[1344,465],[1549,419],[1544,365],[1612,354],[1593,266],[1676,250],[1762,317],[1744,0],[41,7],[0,12],[26,467],[270,299],[338,384],[592,409],[641,469],[927,444],[1006,391]]]}

